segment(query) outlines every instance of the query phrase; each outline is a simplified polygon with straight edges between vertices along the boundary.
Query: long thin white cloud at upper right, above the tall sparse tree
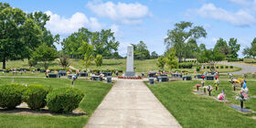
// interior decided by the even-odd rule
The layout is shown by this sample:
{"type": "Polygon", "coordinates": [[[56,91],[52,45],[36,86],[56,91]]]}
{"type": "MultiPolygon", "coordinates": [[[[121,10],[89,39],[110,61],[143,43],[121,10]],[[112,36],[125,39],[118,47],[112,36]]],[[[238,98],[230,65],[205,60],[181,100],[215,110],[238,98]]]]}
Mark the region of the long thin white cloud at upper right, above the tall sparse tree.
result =
{"type": "Polygon", "coordinates": [[[239,10],[233,13],[223,8],[216,7],[213,4],[203,5],[201,8],[196,10],[196,13],[199,16],[226,21],[232,25],[240,27],[251,26],[256,22],[255,17],[244,10],[239,10]]]}

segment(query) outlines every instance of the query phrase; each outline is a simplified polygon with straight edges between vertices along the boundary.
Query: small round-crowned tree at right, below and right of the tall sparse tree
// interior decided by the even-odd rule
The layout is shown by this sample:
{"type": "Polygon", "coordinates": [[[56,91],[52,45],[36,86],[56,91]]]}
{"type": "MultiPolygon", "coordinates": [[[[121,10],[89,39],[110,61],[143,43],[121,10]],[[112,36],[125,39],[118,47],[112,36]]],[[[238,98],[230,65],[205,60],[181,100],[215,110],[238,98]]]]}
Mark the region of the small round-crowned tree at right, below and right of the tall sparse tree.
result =
{"type": "Polygon", "coordinates": [[[221,54],[219,50],[206,49],[201,52],[197,58],[197,61],[199,63],[207,63],[211,68],[215,67],[215,65],[224,58],[225,55],[221,54]]]}

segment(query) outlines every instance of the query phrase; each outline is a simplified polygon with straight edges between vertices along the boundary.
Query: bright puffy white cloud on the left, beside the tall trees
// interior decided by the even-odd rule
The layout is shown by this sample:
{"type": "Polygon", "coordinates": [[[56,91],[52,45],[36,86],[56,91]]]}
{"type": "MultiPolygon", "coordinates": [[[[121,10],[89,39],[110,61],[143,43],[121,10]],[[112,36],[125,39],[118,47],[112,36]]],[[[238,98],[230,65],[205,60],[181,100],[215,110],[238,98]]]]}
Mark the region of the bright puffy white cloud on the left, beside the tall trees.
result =
{"type": "Polygon", "coordinates": [[[47,11],[46,14],[50,16],[50,20],[47,22],[46,27],[53,34],[69,35],[75,31],[78,31],[80,27],[87,27],[92,31],[101,30],[105,25],[98,22],[97,18],[88,18],[84,14],[78,12],[69,18],[61,17],[58,14],[53,14],[47,11]]]}

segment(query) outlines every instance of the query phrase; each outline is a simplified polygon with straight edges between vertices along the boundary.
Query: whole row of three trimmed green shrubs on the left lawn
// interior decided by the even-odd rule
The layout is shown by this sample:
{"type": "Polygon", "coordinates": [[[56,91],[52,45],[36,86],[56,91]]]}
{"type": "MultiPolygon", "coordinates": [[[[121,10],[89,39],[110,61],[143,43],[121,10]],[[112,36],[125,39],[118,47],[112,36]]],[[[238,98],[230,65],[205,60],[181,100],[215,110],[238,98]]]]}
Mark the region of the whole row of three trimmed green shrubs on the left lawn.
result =
{"type": "Polygon", "coordinates": [[[66,113],[75,110],[84,93],[75,88],[59,88],[52,91],[42,85],[8,84],[0,86],[0,107],[12,110],[21,102],[27,102],[29,108],[39,110],[48,106],[50,112],[66,113]]]}

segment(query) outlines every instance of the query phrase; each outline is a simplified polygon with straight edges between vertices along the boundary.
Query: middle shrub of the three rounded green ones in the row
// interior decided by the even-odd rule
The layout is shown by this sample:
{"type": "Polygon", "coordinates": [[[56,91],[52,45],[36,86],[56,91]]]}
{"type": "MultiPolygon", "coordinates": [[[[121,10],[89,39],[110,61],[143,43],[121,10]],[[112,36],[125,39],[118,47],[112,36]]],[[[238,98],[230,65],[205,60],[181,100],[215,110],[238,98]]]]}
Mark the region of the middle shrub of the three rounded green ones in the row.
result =
{"type": "Polygon", "coordinates": [[[46,98],[50,88],[43,85],[29,85],[27,87],[26,102],[29,108],[38,110],[47,104],[46,98]]]}

